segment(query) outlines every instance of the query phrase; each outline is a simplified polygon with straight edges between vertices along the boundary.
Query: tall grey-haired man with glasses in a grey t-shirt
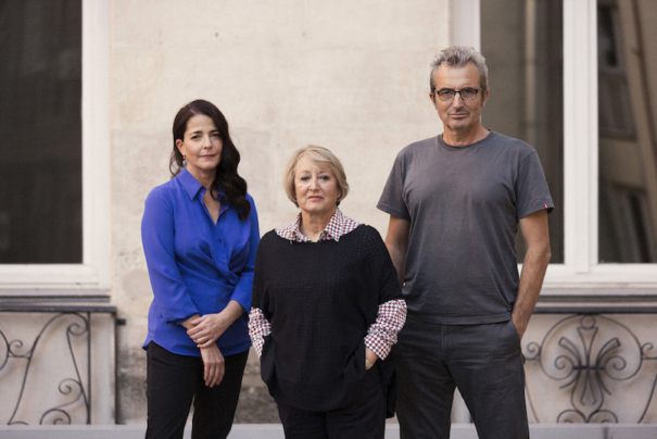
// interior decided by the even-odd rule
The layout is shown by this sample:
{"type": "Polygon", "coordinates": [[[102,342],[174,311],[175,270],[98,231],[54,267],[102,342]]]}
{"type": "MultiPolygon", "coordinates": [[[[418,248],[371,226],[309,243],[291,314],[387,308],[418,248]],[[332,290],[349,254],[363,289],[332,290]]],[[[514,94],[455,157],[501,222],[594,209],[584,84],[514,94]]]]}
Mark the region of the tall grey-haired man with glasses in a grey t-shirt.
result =
{"type": "Polygon", "coordinates": [[[408,306],[395,354],[402,438],[448,438],[455,388],[479,438],[528,438],[520,340],[551,256],[554,204],[536,152],[481,124],[483,57],[455,46],[431,67],[443,134],[399,153],[378,203],[408,306]]]}

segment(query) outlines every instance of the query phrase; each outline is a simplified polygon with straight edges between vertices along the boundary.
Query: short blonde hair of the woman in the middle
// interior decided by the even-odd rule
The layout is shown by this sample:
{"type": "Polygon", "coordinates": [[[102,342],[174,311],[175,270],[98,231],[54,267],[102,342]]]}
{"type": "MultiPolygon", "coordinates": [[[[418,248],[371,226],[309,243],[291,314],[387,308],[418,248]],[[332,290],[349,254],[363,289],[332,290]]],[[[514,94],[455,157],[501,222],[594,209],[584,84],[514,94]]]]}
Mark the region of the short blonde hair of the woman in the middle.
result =
{"type": "Polygon", "coordinates": [[[294,205],[299,208],[299,203],[296,202],[296,190],[294,189],[294,173],[296,170],[296,163],[299,163],[299,161],[304,156],[311,159],[311,162],[313,162],[313,164],[316,166],[326,166],[333,173],[340,193],[338,196],[338,204],[340,204],[340,201],[344,200],[349,193],[349,183],[346,183],[344,167],[342,167],[342,163],[340,163],[340,160],[336,156],[336,154],[324,147],[317,147],[314,145],[294,151],[290,158],[290,161],[288,162],[288,165],[286,166],[286,172],[283,174],[283,188],[286,189],[286,193],[288,195],[290,201],[292,201],[294,205]]]}

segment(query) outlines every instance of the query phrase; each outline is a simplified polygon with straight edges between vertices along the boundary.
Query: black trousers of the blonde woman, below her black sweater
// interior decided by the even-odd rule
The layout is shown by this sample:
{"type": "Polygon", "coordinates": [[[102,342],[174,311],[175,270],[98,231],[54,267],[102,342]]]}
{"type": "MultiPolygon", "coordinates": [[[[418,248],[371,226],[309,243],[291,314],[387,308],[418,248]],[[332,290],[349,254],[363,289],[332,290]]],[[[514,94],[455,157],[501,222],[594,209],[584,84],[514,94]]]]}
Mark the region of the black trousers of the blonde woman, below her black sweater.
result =
{"type": "Polygon", "coordinates": [[[386,396],[377,366],[365,373],[361,392],[344,407],[313,412],[278,404],[286,439],[383,439],[386,396]]]}

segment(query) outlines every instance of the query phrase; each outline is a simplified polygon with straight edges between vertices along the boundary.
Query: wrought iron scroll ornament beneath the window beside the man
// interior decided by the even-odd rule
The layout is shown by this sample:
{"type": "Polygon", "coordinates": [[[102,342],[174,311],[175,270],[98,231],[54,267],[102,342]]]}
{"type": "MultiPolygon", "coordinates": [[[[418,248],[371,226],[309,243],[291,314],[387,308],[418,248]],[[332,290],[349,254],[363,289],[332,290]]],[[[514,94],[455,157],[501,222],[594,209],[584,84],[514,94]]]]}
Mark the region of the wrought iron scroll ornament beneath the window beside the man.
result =
{"type": "Polygon", "coordinates": [[[642,343],[617,319],[597,314],[565,317],[525,351],[528,402],[538,422],[644,421],[657,385],[657,352],[652,342],[642,343]],[[532,397],[538,389],[541,401],[558,401],[561,409],[549,411],[536,404],[532,397]],[[622,398],[630,391],[633,401],[640,401],[631,410],[622,398]],[[566,409],[564,401],[568,401],[566,409]]]}

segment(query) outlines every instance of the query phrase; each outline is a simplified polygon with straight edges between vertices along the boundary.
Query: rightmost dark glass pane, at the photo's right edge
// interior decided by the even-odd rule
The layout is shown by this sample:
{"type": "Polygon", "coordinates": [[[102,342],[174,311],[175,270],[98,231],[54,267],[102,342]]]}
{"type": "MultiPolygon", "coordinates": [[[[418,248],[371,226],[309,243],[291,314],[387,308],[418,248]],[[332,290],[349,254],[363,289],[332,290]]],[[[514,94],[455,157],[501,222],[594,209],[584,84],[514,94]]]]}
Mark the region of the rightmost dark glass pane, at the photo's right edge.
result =
{"type": "Polygon", "coordinates": [[[655,20],[655,2],[598,1],[601,263],[657,262],[655,20]]]}

